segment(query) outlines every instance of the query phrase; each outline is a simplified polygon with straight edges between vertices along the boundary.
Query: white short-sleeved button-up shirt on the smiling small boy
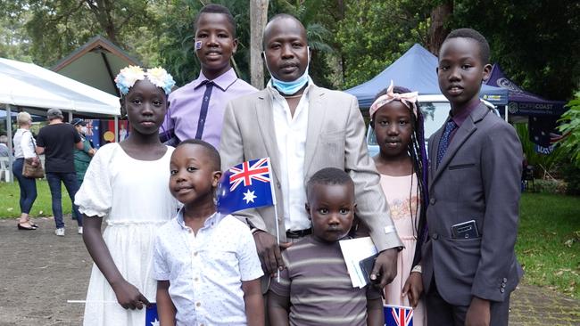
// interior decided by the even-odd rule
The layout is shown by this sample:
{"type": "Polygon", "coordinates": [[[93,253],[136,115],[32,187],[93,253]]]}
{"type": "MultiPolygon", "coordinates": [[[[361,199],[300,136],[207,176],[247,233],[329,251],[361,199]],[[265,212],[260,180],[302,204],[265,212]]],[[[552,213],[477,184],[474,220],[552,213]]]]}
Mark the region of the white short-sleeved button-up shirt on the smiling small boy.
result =
{"type": "Polygon", "coordinates": [[[182,212],[162,226],[153,249],[153,277],[170,281],[177,325],[245,325],[242,281],[263,275],[250,229],[215,213],[195,234],[182,212]]]}

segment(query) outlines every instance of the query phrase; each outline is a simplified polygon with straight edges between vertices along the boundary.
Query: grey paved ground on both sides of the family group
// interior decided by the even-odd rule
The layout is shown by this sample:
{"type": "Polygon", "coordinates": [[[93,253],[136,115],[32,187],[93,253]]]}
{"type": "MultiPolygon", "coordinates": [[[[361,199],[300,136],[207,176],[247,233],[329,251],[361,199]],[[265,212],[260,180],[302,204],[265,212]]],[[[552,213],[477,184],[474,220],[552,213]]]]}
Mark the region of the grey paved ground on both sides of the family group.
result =
{"type": "MultiPolygon", "coordinates": [[[[37,218],[36,231],[18,231],[16,220],[0,219],[0,326],[79,325],[92,265],[66,219],[66,236],[54,235],[54,221],[37,218]]],[[[580,300],[550,289],[520,285],[511,297],[510,325],[580,325],[580,300]]]]}

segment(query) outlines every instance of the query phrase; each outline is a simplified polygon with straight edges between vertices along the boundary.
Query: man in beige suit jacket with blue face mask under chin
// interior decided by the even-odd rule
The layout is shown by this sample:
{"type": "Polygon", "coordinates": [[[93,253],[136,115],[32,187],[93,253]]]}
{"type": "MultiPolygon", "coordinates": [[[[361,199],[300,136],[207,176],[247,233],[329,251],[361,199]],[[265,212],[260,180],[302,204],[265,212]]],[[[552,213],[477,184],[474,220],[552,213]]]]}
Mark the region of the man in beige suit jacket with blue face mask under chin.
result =
{"type": "MultiPolygon", "coordinates": [[[[311,175],[324,167],[344,169],[355,184],[356,215],[369,227],[370,236],[381,252],[371,279],[384,287],[396,275],[396,256],[402,242],[394,229],[379,175],[364,143],[365,126],[357,100],[352,95],[312,83],[308,77],[310,49],[306,32],[294,17],[281,14],[272,18],[264,31],[263,44],[262,54],[272,80],[266,89],[228,103],[220,143],[222,168],[249,159],[270,158],[282,248],[291,244],[293,239],[290,238],[308,234],[310,230],[286,226],[289,219],[285,203],[290,201],[294,207],[301,205],[305,215],[305,201],[296,204],[295,199],[301,198],[311,175]],[[286,122],[289,127],[284,129],[286,122]],[[305,137],[292,134],[296,128],[304,130],[305,137]],[[288,140],[287,135],[281,138],[283,132],[291,134],[292,139],[288,140]],[[301,143],[296,138],[304,141],[301,143]],[[282,149],[280,142],[285,146],[282,149]],[[294,173],[296,165],[302,166],[298,173],[294,173]],[[287,193],[284,193],[285,184],[296,184],[297,178],[300,178],[301,193],[296,193],[293,187],[290,187],[292,192],[286,187],[287,193]]],[[[271,274],[283,268],[276,245],[274,208],[250,209],[240,216],[253,229],[264,270],[271,274]]]]}

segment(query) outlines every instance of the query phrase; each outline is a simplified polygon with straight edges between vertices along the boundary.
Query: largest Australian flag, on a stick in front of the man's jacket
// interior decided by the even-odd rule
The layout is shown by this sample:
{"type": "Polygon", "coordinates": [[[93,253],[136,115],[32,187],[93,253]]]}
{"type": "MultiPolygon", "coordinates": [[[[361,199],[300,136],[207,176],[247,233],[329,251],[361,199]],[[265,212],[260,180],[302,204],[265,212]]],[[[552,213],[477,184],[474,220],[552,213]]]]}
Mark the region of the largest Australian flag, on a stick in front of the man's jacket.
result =
{"type": "Polygon", "coordinates": [[[218,211],[230,214],[247,208],[274,205],[269,158],[253,159],[221,175],[218,211]]]}

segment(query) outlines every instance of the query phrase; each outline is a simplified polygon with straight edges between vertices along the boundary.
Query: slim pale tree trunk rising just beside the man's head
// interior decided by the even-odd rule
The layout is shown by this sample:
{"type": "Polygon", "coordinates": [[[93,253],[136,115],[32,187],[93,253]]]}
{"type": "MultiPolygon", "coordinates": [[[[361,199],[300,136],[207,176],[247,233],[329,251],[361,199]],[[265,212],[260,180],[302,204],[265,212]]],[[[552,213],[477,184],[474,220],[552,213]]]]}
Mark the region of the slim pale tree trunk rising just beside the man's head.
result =
{"type": "Polygon", "coordinates": [[[252,86],[264,88],[261,36],[268,21],[269,0],[250,0],[250,77],[252,86]]]}

